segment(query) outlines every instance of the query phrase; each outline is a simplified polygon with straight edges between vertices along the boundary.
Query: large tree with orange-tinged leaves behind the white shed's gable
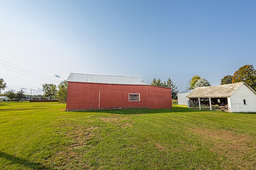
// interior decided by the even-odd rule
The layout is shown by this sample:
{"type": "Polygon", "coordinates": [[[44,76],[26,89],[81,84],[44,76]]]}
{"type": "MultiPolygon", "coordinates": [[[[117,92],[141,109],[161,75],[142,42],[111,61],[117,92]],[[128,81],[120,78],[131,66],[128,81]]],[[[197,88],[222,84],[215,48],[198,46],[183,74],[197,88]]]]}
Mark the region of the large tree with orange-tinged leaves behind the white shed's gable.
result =
{"type": "Polygon", "coordinates": [[[240,67],[232,76],[232,83],[246,82],[256,91],[256,70],[253,65],[240,67]]]}

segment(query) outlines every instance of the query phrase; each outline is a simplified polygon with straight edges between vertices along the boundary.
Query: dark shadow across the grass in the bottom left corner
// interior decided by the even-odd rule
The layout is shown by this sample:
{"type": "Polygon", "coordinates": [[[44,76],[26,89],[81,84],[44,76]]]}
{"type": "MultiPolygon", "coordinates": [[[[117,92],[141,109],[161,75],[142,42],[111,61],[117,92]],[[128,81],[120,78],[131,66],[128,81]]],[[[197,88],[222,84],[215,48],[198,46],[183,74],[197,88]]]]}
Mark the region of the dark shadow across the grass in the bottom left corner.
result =
{"type": "Polygon", "coordinates": [[[26,159],[19,158],[17,156],[7,154],[0,151],[0,158],[4,158],[8,161],[11,161],[12,164],[20,164],[21,166],[26,166],[27,168],[35,169],[35,170],[52,170],[52,168],[43,166],[40,163],[31,162],[26,159]]]}

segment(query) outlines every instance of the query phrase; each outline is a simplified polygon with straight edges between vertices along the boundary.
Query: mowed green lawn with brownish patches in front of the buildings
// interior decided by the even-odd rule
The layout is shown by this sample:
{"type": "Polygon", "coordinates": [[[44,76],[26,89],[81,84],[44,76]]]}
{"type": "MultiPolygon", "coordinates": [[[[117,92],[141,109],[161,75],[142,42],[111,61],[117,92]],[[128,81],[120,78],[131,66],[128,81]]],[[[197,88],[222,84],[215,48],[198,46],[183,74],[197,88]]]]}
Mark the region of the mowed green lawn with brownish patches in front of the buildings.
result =
{"type": "Polygon", "coordinates": [[[256,169],[256,114],[0,103],[0,169],[256,169]]]}

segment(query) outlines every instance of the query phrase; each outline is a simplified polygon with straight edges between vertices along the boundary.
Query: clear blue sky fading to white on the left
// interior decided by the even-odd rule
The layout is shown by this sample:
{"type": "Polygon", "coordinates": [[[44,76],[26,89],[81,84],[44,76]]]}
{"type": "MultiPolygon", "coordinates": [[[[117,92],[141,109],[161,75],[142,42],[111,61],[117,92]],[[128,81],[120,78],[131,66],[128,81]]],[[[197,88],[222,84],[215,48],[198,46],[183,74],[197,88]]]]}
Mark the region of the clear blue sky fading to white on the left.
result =
{"type": "Polygon", "coordinates": [[[195,75],[219,85],[256,66],[255,9],[254,0],[0,0],[0,78],[32,95],[70,72],[171,78],[180,92],[195,75]]]}

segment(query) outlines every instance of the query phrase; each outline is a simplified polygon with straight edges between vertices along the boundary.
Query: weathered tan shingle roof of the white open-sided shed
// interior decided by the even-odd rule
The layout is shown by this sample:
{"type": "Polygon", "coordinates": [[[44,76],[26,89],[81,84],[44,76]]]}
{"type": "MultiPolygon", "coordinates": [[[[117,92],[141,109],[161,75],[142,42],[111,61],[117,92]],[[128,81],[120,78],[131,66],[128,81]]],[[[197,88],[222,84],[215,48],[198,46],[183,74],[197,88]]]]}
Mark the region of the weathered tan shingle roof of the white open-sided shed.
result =
{"type": "MultiPolygon", "coordinates": [[[[230,97],[242,84],[248,86],[245,82],[223,84],[219,86],[206,86],[195,88],[187,98],[220,98],[230,97]]],[[[250,86],[248,86],[250,88],[250,86]]],[[[252,88],[250,88],[252,90],[252,88]]],[[[254,91],[254,90],[253,90],[254,91]]],[[[254,92],[255,93],[255,92],[254,92]]]]}

